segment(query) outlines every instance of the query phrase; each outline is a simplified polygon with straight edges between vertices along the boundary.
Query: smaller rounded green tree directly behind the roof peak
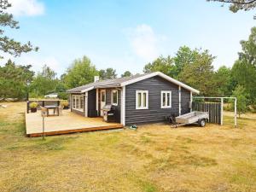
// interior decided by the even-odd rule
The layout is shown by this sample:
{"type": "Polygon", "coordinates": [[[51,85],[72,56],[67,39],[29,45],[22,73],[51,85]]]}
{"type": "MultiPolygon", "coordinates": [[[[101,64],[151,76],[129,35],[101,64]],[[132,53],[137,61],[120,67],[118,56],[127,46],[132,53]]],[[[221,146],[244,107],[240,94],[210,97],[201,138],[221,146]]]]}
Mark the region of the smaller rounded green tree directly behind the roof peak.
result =
{"type": "Polygon", "coordinates": [[[153,62],[149,62],[143,69],[144,73],[161,72],[168,76],[176,75],[176,67],[174,66],[173,59],[170,55],[164,57],[160,55],[153,62]]]}

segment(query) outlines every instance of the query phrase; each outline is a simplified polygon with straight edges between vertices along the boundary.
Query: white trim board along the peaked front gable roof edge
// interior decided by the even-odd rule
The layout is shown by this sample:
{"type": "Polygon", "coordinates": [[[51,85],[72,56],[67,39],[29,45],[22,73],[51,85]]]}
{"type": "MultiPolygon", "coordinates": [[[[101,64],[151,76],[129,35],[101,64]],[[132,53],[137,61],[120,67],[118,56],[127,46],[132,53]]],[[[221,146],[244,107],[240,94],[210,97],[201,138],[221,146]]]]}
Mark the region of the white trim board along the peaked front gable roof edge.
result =
{"type": "Polygon", "coordinates": [[[144,80],[144,79],[148,79],[148,78],[152,78],[152,77],[157,76],[157,75],[160,76],[163,79],[166,79],[166,80],[172,82],[173,84],[177,84],[177,85],[183,87],[186,90],[190,90],[190,91],[195,92],[197,94],[200,93],[199,90],[195,90],[194,88],[190,87],[189,85],[183,84],[182,82],[177,81],[176,79],[172,79],[171,77],[167,76],[166,74],[160,73],[160,72],[149,73],[149,74],[144,75],[142,77],[139,77],[137,79],[131,79],[129,81],[125,81],[124,83],[121,83],[120,85],[121,86],[125,86],[125,85],[128,85],[128,84],[133,84],[133,83],[136,83],[138,81],[141,81],[141,80],[144,80]]]}

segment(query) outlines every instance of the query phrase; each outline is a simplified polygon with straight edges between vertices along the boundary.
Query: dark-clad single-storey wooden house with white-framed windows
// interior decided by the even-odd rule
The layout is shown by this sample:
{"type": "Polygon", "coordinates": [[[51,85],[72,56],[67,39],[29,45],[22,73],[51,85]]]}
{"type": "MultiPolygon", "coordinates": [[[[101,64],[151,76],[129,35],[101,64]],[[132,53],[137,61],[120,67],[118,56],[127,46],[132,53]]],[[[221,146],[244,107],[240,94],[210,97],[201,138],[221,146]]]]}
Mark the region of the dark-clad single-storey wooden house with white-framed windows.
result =
{"type": "Polygon", "coordinates": [[[96,79],[94,83],[67,92],[73,113],[84,117],[102,116],[102,108],[112,104],[122,125],[157,122],[166,115],[189,113],[192,94],[199,94],[199,90],[160,72],[96,79]]]}

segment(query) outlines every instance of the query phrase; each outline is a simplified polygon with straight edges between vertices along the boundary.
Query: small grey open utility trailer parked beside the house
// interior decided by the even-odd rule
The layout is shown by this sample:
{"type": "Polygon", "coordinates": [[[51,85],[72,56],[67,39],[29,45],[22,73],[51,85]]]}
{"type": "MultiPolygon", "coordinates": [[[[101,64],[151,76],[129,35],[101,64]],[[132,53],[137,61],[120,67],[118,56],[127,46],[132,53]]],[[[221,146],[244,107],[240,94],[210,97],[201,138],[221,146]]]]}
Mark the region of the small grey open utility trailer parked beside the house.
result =
{"type": "Polygon", "coordinates": [[[189,125],[189,124],[195,124],[197,123],[201,127],[206,125],[206,120],[209,119],[209,113],[208,112],[199,112],[194,111],[190,113],[186,113],[180,116],[177,116],[175,118],[175,125],[172,125],[172,127],[178,127],[182,125],[189,125]]]}

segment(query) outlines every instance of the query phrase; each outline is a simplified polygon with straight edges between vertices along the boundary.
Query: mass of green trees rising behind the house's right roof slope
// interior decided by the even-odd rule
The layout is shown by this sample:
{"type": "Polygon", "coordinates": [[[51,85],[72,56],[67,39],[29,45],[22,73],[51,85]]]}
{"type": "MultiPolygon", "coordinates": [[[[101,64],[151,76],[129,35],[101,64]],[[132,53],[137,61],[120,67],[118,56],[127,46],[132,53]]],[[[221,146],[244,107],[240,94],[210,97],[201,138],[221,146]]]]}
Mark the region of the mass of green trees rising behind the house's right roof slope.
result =
{"type": "MultiPolygon", "coordinates": [[[[177,50],[177,54],[173,58],[170,55],[167,57],[160,56],[152,63],[148,63],[145,65],[143,72],[160,71],[200,90],[203,96],[216,96],[218,89],[212,66],[214,58],[208,50],[189,49],[189,47],[183,46],[177,50]]],[[[221,76],[222,71],[218,73],[219,76],[221,76]]],[[[219,94],[226,94],[224,91],[228,92],[230,90],[224,88],[219,94]]]]}

